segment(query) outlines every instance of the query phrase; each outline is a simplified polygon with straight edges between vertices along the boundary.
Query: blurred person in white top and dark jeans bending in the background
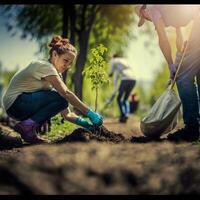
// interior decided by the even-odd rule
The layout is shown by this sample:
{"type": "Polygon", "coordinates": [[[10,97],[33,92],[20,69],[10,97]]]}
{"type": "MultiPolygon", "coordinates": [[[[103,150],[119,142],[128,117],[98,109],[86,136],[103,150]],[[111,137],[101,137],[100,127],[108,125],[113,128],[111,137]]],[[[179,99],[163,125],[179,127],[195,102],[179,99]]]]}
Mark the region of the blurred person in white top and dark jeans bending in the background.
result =
{"type": "Polygon", "coordinates": [[[128,97],[135,86],[136,80],[134,79],[134,72],[129,66],[127,61],[120,57],[118,54],[114,54],[110,61],[110,72],[109,76],[114,76],[114,87],[118,86],[118,79],[121,78],[120,85],[118,88],[117,103],[120,110],[119,122],[126,122],[130,111],[130,105],[128,97]]]}

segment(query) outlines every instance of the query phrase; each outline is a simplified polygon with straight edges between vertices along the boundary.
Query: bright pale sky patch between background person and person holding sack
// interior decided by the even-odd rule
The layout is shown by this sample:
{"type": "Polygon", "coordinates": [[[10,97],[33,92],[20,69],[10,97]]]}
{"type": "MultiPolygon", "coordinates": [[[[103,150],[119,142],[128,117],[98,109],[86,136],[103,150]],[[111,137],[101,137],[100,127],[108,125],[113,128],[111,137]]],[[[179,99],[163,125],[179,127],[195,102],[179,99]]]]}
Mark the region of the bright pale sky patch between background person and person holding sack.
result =
{"type": "Polygon", "coordinates": [[[165,60],[158,46],[156,34],[153,37],[141,34],[144,28],[145,24],[140,28],[136,26],[133,28],[133,32],[138,39],[130,41],[129,48],[127,49],[127,59],[135,70],[136,78],[140,81],[148,82],[153,80],[155,72],[162,68],[165,60]],[[148,49],[145,46],[147,41],[150,43],[148,49]]]}

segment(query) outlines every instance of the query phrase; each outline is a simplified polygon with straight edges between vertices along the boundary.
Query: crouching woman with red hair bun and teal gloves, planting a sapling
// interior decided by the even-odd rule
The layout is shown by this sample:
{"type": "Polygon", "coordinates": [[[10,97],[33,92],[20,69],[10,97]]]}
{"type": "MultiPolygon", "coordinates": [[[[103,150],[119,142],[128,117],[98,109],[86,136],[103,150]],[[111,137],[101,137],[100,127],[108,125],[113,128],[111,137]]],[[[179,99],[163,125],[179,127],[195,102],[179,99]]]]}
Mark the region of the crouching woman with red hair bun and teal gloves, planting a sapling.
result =
{"type": "Polygon", "coordinates": [[[101,126],[103,123],[102,116],[80,101],[62,80],[61,74],[76,58],[75,47],[61,36],[54,36],[49,47],[49,59],[33,61],[17,72],[3,96],[7,114],[20,121],[15,130],[28,143],[44,142],[36,129],[59,112],[66,120],[88,130],[93,129],[93,124],[101,126]],[[92,123],[72,113],[69,103],[92,123]]]}

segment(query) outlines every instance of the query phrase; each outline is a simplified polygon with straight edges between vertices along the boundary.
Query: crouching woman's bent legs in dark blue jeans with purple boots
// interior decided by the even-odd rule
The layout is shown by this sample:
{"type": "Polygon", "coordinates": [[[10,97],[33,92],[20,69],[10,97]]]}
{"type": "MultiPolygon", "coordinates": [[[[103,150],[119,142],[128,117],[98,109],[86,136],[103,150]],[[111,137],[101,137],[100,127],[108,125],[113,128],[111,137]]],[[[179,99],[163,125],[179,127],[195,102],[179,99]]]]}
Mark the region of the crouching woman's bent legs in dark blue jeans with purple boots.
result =
{"type": "Polygon", "coordinates": [[[68,102],[56,91],[23,93],[8,110],[8,114],[21,120],[14,129],[26,142],[38,143],[44,141],[36,133],[39,125],[67,106],[68,102]]]}

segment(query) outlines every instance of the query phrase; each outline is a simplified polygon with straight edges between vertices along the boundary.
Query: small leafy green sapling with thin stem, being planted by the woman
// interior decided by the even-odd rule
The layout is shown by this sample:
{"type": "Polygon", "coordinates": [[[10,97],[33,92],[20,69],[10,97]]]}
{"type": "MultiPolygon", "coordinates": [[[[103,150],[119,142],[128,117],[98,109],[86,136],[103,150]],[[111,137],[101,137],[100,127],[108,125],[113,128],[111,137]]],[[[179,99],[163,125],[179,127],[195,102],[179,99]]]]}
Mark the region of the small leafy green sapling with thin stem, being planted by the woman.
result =
{"type": "Polygon", "coordinates": [[[107,48],[99,44],[89,52],[89,64],[83,71],[83,75],[89,78],[92,83],[92,90],[95,90],[95,112],[97,111],[99,87],[102,84],[109,83],[109,77],[106,72],[107,63],[105,61],[105,52],[107,48]]]}

